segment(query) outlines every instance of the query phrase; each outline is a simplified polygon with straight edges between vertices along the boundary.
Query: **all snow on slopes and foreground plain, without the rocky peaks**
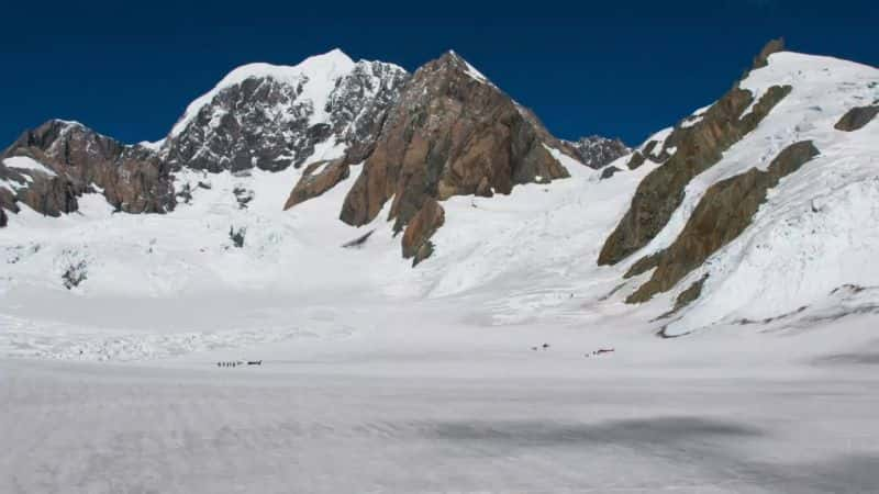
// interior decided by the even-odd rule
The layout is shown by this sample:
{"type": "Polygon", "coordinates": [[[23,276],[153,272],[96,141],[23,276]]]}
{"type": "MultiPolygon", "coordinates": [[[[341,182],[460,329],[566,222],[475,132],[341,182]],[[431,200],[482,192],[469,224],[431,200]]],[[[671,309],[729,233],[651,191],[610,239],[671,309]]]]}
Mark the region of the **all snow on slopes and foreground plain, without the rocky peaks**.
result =
{"type": "Polygon", "coordinates": [[[879,71],[780,53],[742,86],[777,83],[793,90],[615,267],[596,260],[649,160],[601,180],[550,149],[570,179],[444,201],[414,269],[387,211],[337,220],[357,166],[286,212],[303,168],[182,169],[192,197],[166,215],[99,194],[10,214],[0,492],[879,492],[879,123],[833,128],[879,71]],[[711,184],[803,139],[821,155],[743,235],[624,303],[649,276],[628,263],[711,184]]]}

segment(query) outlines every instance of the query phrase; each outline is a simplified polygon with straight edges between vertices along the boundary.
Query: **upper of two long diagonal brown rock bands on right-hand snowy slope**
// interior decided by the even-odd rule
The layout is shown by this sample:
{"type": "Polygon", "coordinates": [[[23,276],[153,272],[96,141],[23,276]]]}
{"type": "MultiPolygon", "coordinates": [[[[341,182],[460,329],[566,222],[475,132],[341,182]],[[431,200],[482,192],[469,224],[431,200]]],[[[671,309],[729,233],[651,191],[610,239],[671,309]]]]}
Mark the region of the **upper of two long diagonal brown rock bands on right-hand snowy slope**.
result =
{"type": "MultiPolygon", "coordinates": [[[[750,91],[736,87],[709,108],[697,123],[676,127],[657,159],[664,157],[666,148],[676,147],[677,150],[638,184],[628,211],[601,249],[599,265],[616,263],[647,245],[683,201],[687,183],[720,161],[723,151],[756,128],[791,89],[790,86],[769,88],[753,110],[742,115],[753,97],[750,91]]],[[[648,145],[644,154],[654,155],[655,146],[648,145]]]]}

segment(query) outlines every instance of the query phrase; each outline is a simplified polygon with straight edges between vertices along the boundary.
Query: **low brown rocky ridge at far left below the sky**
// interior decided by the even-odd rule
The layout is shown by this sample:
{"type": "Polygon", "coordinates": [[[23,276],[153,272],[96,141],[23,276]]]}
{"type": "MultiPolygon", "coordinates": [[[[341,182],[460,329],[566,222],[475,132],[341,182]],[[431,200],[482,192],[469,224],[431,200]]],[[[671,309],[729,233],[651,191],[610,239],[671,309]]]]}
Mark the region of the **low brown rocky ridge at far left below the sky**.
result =
{"type": "Polygon", "coordinates": [[[102,193],[118,211],[164,213],[175,206],[170,169],[158,155],[78,124],[53,120],[25,132],[0,155],[0,205],[16,202],[49,216],[78,209],[84,193],[102,193]],[[30,165],[29,165],[30,164],[30,165]]]}

